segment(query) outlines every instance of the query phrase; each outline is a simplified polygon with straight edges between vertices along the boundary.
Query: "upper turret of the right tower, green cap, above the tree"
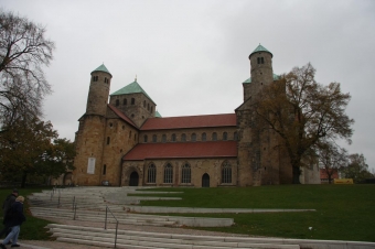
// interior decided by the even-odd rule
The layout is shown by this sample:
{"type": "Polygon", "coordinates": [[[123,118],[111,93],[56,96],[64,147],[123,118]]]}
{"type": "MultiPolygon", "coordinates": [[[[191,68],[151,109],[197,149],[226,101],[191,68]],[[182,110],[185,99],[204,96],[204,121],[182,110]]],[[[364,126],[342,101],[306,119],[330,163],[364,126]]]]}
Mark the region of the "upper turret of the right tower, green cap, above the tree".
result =
{"type": "Polygon", "coordinates": [[[258,45],[248,56],[251,78],[244,83],[244,100],[257,96],[264,86],[274,82],[272,54],[262,45],[258,45]]]}

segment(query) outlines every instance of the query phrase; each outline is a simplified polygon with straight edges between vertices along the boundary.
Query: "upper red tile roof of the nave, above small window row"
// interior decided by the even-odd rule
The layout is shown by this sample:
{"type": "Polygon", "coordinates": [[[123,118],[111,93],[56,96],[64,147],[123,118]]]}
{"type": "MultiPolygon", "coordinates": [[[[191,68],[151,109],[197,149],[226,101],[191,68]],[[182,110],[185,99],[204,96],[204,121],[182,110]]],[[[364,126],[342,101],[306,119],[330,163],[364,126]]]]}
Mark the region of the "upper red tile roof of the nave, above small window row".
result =
{"type": "Polygon", "coordinates": [[[234,127],[236,115],[204,115],[148,119],[140,130],[165,130],[182,128],[234,127]]]}

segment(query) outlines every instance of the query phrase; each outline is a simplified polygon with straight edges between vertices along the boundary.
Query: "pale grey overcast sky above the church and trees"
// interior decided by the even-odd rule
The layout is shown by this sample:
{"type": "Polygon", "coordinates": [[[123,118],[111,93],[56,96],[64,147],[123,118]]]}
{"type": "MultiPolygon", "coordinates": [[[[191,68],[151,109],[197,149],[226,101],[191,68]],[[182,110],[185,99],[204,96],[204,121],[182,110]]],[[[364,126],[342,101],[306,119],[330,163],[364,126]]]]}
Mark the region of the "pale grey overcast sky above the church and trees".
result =
{"type": "Polygon", "coordinates": [[[56,50],[45,68],[53,94],[45,120],[74,140],[90,73],[104,63],[110,93],[138,83],[162,117],[233,113],[264,45],[274,73],[311,63],[321,84],[339,82],[355,119],[350,153],[375,169],[375,1],[373,0],[1,0],[46,28],[56,50]]]}

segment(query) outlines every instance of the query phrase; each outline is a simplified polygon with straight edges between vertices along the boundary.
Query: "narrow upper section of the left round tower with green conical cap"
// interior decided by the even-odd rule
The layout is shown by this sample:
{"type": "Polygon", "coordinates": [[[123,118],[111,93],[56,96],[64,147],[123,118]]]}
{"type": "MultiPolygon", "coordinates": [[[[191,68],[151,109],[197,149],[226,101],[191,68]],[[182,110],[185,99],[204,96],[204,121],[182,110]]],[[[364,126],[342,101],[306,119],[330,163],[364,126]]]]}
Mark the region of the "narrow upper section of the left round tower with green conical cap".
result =
{"type": "Polygon", "coordinates": [[[92,72],[86,115],[106,115],[111,78],[113,75],[104,64],[92,72]]]}

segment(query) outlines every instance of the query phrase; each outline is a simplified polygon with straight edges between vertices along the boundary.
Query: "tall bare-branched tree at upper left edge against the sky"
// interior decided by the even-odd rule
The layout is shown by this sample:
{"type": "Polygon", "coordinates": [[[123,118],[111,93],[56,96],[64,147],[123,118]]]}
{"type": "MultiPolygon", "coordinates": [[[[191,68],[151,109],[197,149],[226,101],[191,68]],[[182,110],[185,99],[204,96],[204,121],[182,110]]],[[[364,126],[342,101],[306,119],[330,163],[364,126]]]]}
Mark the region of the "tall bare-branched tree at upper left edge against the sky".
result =
{"type": "Polygon", "coordinates": [[[43,97],[51,93],[42,66],[54,48],[43,26],[0,10],[0,122],[42,115],[43,97]]]}

